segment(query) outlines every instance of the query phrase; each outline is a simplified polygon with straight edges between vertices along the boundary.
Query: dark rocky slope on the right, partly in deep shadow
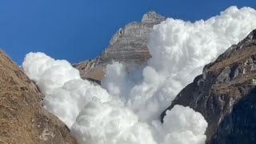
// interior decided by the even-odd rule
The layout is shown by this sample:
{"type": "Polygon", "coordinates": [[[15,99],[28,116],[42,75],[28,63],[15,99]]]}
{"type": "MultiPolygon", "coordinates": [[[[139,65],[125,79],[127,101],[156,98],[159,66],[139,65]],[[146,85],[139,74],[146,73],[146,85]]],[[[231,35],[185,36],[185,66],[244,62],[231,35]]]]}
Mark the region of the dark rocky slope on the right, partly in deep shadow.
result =
{"type": "Polygon", "coordinates": [[[255,38],[256,30],[206,65],[168,108],[182,105],[200,112],[209,124],[206,143],[256,143],[255,38]]]}

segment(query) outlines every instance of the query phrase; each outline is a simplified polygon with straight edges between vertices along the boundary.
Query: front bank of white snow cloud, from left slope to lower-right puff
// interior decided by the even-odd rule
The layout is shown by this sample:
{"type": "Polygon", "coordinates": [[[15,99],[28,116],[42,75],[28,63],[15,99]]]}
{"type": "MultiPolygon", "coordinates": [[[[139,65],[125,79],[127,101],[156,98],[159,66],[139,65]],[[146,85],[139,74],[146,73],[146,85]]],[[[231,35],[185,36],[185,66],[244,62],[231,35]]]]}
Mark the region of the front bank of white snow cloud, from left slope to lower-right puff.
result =
{"type": "MultiPolygon", "coordinates": [[[[122,64],[114,63],[113,66],[117,70],[113,74],[126,76],[119,73],[125,73],[122,64]]],[[[82,80],[69,62],[54,60],[42,53],[30,53],[26,54],[23,68],[46,95],[43,101],[46,110],[65,122],[80,143],[200,143],[206,139],[207,122],[189,107],[175,106],[167,112],[163,124],[154,120],[142,122],[138,120],[140,116],[125,105],[129,98],[110,95],[101,86],[82,80]],[[184,140],[182,135],[190,138],[184,140]]]]}

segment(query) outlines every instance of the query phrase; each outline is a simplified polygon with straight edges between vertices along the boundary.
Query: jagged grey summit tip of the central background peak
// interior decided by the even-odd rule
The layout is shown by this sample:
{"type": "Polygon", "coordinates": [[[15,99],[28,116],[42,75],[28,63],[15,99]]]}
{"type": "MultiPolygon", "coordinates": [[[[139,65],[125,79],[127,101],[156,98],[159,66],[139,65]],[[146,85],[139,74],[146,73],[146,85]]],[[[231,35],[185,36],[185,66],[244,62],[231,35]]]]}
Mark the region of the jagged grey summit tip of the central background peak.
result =
{"type": "Polygon", "coordinates": [[[166,18],[158,14],[154,10],[151,10],[143,15],[142,22],[159,23],[164,21],[166,18]]]}

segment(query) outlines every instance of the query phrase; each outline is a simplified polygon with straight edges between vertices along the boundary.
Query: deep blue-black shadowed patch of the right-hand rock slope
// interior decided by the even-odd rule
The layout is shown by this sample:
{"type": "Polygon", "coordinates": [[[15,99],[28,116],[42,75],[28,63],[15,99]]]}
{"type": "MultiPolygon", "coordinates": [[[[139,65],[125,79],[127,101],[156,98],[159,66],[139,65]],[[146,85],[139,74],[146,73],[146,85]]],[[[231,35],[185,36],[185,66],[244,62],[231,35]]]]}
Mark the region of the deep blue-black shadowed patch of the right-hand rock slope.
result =
{"type": "Polygon", "coordinates": [[[218,126],[212,142],[218,143],[255,143],[256,142],[256,89],[250,90],[233,106],[218,126]]]}

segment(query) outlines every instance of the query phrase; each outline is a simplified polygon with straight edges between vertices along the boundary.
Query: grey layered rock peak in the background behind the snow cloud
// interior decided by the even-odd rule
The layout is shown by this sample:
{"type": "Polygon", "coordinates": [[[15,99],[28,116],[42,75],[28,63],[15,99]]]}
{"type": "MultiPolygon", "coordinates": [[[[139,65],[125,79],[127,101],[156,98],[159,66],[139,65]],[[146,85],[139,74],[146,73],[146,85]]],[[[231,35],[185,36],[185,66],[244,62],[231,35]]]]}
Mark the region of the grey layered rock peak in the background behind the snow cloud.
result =
{"type": "Polygon", "coordinates": [[[142,65],[150,58],[146,46],[150,31],[155,24],[166,18],[150,11],[144,14],[142,22],[132,22],[119,29],[110,41],[110,46],[98,58],[75,64],[82,78],[93,81],[102,80],[107,64],[112,61],[123,62],[126,65],[142,65]]]}

